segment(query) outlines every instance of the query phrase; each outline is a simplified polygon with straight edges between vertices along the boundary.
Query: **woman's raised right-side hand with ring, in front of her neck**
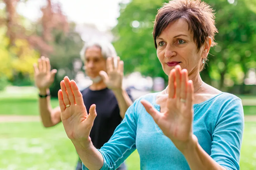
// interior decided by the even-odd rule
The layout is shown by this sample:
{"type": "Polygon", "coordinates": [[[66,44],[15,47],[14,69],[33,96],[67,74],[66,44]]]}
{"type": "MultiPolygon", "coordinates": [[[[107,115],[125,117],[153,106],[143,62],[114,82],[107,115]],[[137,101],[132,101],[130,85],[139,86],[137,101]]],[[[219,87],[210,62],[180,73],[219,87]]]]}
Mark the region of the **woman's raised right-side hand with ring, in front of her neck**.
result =
{"type": "MultiPolygon", "coordinates": [[[[141,103],[153,117],[164,135],[183,152],[193,141],[193,82],[188,71],[176,66],[169,74],[168,98],[164,112],[157,111],[149,102],[141,103]]],[[[162,108],[161,108],[162,109],[162,108]]]]}

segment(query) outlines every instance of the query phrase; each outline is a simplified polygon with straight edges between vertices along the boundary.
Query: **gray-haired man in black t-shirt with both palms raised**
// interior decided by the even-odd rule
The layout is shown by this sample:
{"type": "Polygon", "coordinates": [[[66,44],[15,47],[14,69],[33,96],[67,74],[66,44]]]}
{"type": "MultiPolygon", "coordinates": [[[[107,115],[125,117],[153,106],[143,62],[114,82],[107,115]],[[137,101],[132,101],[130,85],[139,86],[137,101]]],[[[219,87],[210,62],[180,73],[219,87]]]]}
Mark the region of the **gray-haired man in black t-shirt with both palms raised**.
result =
{"type": "MultiPolygon", "coordinates": [[[[124,90],[122,87],[124,63],[117,57],[110,42],[86,42],[80,55],[84,61],[85,73],[92,80],[92,84],[81,91],[84,105],[87,108],[92,104],[98,106],[90,138],[96,148],[101,148],[111,138],[133,99],[129,89],[124,90]]],[[[34,64],[35,84],[39,89],[39,110],[44,127],[52,127],[62,121],[60,107],[52,109],[50,104],[49,86],[57,72],[50,67],[50,61],[45,57],[39,58],[38,66],[34,64]]],[[[66,105],[69,106],[70,104],[66,105]]],[[[82,162],[79,158],[76,170],[81,169],[82,162]]],[[[125,169],[125,164],[119,166],[119,170],[125,169]]]]}

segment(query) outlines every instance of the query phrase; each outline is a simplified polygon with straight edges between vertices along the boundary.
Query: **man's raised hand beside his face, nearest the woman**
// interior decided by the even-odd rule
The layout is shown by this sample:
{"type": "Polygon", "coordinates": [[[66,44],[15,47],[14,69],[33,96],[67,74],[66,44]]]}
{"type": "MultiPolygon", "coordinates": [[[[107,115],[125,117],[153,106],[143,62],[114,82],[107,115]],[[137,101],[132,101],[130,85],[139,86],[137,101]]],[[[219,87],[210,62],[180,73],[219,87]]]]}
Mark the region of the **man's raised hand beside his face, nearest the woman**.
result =
{"type": "Polygon", "coordinates": [[[117,67],[115,67],[114,58],[107,58],[107,73],[100,71],[100,76],[109,89],[114,91],[122,89],[124,62],[117,57],[117,67]]]}

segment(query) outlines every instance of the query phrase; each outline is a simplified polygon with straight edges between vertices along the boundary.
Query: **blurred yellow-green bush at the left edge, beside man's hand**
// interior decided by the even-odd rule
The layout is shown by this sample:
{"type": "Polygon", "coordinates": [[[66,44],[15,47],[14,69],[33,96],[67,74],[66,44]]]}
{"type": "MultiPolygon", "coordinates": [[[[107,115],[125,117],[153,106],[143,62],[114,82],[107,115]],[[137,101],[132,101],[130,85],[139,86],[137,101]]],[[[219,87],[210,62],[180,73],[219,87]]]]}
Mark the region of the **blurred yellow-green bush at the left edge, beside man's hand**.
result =
{"type": "MultiPolygon", "coordinates": [[[[15,46],[8,47],[9,38],[6,37],[6,27],[0,29],[0,75],[2,81],[10,81],[13,85],[31,85],[33,78],[33,63],[37,61],[39,53],[30,47],[25,39],[15,40],[15,46]],[[4,80],[7,79],[7,80],[4,80]]],[[[6,84],[2,84],[4,86],[6,84]]],[[[1,89],[1,88],[0,88],[1,89]]]]}

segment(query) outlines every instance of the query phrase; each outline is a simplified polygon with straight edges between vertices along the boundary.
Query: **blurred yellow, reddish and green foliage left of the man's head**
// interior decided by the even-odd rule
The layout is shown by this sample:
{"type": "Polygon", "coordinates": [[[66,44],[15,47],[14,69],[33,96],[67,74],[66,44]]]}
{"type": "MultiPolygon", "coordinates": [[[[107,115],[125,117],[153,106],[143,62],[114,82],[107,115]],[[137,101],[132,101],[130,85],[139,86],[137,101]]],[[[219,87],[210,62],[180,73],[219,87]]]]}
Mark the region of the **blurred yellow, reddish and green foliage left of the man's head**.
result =
{"type": "Polygon", "coordinates": [[[41,7],[42,17],[36,23],[16,12],[20,0],[0,1],[5,4],[0,9],[0,73],[13,85],[31,85],[33,63],[42,55],[49,57],[52,68],[65,70],[57,74],[52,86],[52,95],[56,96],[62,76],[74,78],[76,74],[72,71],[73,61],[80,58],[82,40],[75,32],[75,24],[69,23],[62,13],[60,4],[45,1],[47,5],[41,7]]]}

